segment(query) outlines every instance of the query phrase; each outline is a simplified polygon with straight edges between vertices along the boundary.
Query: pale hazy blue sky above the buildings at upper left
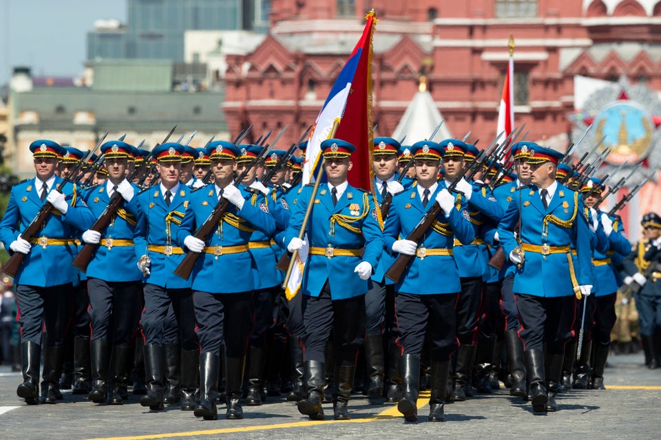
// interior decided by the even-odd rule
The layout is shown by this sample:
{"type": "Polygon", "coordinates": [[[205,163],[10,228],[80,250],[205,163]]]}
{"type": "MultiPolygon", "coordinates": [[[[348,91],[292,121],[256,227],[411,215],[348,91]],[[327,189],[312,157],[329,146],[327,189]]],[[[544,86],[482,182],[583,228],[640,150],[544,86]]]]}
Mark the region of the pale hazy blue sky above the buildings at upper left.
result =
{"type": "Polygon", "coordinates": [[[0,0],[0,85],[12,67],[34,76],[77,76],[96,19],[126,23],[127,0],[0,0]]]}

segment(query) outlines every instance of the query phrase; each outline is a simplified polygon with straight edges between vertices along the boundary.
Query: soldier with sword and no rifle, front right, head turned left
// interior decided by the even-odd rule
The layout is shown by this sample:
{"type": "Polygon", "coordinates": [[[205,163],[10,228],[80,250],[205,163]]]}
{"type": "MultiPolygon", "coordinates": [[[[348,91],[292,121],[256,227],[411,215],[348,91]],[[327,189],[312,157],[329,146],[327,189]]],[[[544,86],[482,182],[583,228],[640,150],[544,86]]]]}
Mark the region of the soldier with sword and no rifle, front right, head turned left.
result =
{"type": "Polygon", "coordinates": [[[573,333],[576,297],[591,293],[591,243],[583,200],[555,179],[562,154],[536,144],[526,148],[534,188],[514,192],[498,234],[505,255],[518,265],[512,289],[533,411],[546,412],[558,410],[555,397],[565,344],[573,333]],[[578,267],[571,260],[572,243],[578,267]]]}

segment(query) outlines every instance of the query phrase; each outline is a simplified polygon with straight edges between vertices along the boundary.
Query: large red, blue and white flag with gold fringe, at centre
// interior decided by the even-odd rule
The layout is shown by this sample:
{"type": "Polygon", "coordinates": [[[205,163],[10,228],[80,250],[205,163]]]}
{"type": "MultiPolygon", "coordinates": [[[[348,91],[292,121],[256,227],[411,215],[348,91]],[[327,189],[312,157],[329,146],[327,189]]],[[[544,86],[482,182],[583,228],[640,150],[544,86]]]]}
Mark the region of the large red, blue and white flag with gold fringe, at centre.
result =
{"type": "MultiPolygon", "coordinates": [[[[331,137],[333,125],[337,123],[339,125],[333,137],[346,140],[356,147],[351,155],[353,167],[347,177],[349,184],[374,193],[372,39],[377,24],[374,11],[367,14],[365,19],[367,23],[363,33],[330,89],[308,138],[302,170],[303,185],[315,181],[316,171],[321,164],[321,144],[331,137]]],[[[304,241],[308,243],[307,238],[304,241]]],[[[297,255],[287,281],[285,294],[288,299],[293,298],[301,287],[307,254],[306,245],[297,255]]]]}

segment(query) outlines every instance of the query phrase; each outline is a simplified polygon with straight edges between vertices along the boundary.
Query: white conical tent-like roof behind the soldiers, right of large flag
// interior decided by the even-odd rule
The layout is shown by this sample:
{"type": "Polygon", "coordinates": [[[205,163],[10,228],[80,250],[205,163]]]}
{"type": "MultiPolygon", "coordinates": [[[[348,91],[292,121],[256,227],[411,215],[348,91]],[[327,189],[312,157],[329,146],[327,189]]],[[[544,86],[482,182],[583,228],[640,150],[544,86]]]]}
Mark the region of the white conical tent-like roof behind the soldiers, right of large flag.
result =
{"type": "MultiPolygon", "coordinates": [[[[406,135],[404,144],[407,145],[419,140],[426,140],[442,119],[443,116],[434,104],[431,94],[428,91],[418,91],[399,120],[395,132],[392,133],[392,138],[400,140],[406,135]]],[[[448,124],[443,122],[433,140],[439,142],[450,137],[452,137],[452,133],[450,133],[448,124]]]]}

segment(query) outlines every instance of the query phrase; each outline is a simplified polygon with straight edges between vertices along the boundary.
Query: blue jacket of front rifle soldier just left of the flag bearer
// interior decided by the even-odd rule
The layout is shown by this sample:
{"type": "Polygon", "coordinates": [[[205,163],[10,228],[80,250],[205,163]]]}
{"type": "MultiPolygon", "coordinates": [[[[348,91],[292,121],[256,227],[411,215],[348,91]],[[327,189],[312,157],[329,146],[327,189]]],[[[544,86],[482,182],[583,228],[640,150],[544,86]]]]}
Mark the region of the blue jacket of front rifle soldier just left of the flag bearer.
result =
{"type": "MultiPolygon", "coordinates": [[[[237,188],[243,190],[243,185],[237,188]]],[[[211,215],[218,204],[215,184],[191,192],[190,202],[184,219],[177,231],[177,243],[183,247],[184,239],[193,235],[197,228],[211,215]]],[[[223,246],[248,245],[255,230],[270,236],[275,232],[275,221],[271,214],[246,201],[241,210],[229,204],[213,234],[207,237],[207,251],[216,247],[222,253],[223,246]]],[[[184,248],[187,251],[187,248],[184,248]]],[[[211,294],[233,294],[255,289],[253,282],[253,259],[250,252],[236,254],[209,254],[202,252],[191,272],[192,288],[211,294]]]]}

